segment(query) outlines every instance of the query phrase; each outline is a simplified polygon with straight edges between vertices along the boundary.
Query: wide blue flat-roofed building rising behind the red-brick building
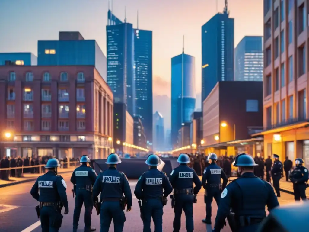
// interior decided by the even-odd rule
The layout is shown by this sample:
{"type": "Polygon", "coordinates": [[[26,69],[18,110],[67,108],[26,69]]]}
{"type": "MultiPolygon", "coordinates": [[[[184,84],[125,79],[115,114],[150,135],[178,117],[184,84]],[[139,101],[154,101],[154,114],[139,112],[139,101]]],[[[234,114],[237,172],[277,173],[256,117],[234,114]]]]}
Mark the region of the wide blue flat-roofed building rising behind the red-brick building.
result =
{"type": "Polygon", "coordinates": [[[106,82],[106,57],[95,40],[79,32],[59,32],[59,40],[38,41],[40,66],[91,65],[106,82]]]}

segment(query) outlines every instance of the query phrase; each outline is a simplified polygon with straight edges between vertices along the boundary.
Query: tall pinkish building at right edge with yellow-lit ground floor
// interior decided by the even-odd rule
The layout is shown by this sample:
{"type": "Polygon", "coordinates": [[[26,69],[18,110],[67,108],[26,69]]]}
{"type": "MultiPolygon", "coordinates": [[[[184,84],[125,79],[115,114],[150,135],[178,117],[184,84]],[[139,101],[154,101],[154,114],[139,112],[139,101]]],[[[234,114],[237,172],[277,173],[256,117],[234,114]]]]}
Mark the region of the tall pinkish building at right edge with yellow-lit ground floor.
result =
{"type": "Polygon", "coordinates": [[[309,167],[308,1],[265,1],[265,156],[301,157],[309,167]]]}

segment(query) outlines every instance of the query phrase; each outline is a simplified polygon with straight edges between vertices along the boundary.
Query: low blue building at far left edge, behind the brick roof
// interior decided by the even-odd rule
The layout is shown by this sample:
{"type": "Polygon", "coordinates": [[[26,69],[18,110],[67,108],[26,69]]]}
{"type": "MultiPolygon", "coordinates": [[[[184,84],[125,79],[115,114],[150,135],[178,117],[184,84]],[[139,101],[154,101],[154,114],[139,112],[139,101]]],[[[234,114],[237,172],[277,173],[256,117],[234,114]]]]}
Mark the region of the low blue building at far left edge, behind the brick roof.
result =
{"type": "Polygon", "coordinates": [[[33,66],[37,65],[37,57],[31,52],[0,53],[0,66],[6,65],[7,62],[15,63],[15,65],[33,66]]]}

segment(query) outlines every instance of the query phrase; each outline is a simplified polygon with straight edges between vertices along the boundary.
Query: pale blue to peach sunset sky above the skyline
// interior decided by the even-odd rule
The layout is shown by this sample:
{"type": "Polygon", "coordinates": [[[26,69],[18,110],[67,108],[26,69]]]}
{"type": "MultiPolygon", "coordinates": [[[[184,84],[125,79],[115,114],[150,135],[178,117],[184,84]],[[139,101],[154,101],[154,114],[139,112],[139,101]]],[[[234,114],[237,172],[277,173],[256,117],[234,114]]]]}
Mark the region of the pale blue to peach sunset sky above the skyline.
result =
{"type": "MultiPolygon", "coordinates": [[[[235,46],[245,35],[263,35],[263,1],[229,0],[235,46]]],[[[184,51],[196,58],[196,92],[201,92],[201,26],[216,11],[215,0],[114,0],[113,13],[153,31],[153,92],[171,95],[171,58],[184,51]]],[[[218,0],[222,12],[224,0],[218,0]]],[[[59,31],[95,39],[106,55],[108,0],[0,0],[0,52],[32,52],[38,40],[57,40],[59,31]]],[[[154,96],[154,101],[156,101],[154,96]]],[[[200,102],[200,99],[197,99],[200,102]]],[[[154,112],[156,102],[154,102],[154,112]]],[[[201,108],[201,107],[197,107],[201,108]]],[[[170,109],[161,112],[170,127],[170,109]]]]}

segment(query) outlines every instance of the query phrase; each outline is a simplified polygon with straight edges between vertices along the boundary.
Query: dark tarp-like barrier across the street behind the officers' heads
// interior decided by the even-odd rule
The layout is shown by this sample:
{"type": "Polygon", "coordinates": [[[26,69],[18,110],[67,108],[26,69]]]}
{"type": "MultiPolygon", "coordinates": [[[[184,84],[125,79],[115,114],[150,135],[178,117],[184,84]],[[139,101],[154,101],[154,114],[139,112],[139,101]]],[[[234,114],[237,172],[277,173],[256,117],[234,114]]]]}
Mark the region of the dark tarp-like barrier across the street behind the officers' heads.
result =
{"type": "MultiPolygon", "coordinates": [[[[162,171],[166,172],[169,177],[171,171],[178,166],[177,159],[163,158],[162,161],[165,163],[162,171]]],[[[96,173],[100,173],[108,169],[108,165],[105,162],[106,159],[91,160],[91,167],[95,169],[96,173]]],[[[148,170],[148,165],[145,164],[145,159],[143,158],[121,159],[121,163],[117,165],[117,169],[125,173],[130,179],[138,179],[143,172],[148,170]]]]}

